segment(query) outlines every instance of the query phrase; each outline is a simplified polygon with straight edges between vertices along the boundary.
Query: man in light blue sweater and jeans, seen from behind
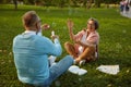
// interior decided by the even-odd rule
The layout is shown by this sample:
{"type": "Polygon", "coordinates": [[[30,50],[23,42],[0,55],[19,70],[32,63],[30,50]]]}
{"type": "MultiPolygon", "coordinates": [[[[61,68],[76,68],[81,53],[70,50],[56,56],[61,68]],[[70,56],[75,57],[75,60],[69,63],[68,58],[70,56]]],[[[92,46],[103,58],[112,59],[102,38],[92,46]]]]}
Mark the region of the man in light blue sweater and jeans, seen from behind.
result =
{"type": "Polygon", "coordinates": [[[47,87],[72,65],[73,58],[67,55],[49,67],[48,55],[58,57],[62,52],[58,36],[52,36],[52,42],[38,35],[41,32],[40,18],[35,11],[26,12],[22,21],[25,32],[13,39],[19,79],[25,84],[47,87]]]}

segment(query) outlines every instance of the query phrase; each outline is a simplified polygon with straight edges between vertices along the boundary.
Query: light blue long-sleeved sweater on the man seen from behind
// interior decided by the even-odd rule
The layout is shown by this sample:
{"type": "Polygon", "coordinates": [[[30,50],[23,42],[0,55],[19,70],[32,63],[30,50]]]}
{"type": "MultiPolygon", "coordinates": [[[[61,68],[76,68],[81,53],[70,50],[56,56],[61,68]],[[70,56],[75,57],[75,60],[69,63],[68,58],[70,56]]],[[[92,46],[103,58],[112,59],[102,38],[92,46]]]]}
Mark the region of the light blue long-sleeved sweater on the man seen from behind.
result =
{"type": "Polygon", "coordinates": [[[25,32],[13,39],[14,63],[19,79],[28,84],[40,84],[49,77],[48,55],[62,52],[58,39],[52,42],[35,32],[25,32]]]}

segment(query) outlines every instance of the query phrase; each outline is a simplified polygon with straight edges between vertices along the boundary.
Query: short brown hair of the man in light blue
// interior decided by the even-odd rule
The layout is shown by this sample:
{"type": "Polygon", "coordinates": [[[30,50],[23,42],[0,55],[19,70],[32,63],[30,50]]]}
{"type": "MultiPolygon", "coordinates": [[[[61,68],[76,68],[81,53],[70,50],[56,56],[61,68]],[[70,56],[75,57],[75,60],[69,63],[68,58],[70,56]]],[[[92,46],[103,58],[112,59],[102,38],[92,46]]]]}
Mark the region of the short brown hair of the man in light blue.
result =
{"type": "Polygon", "coordinates": [[[22,16],[22,22],[25,26],[33,26],[38,20],[38,16],[35,11],[28,11],[22,16]]]}

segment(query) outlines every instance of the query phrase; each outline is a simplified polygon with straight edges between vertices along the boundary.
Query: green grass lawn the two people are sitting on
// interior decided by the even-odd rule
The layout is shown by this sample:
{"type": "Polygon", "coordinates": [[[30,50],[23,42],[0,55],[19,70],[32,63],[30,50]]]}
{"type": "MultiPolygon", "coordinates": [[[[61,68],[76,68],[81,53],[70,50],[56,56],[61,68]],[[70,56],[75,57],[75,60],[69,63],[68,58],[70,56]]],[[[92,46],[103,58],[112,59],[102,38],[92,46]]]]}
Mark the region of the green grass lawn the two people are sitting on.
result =
{"type": "MultiPolygon", "coordinates": [[[[131,87],[131,18],[123,17],[117,9],[73,9],[73,8],[44,8],[32,5],[19,5],[13,10],[11,4],[0,4],[0,87],[29,87],[19,82],[12,54],[12,39],[24,32],[21,16],[28,10],[35,10],[43,23],[51,25],[44,35],[50,37],[53,29],[60,36],[63,44],[69,41],[67,20],[74,24],[74,33],[86,27],[87,18],[95,17],[99,21],[99,60],[87,63],[81,67],[87,70],[87,74],[78,76],[67,72],[57,80],[60,87],[131,87]],[[120,72],[109,75],[96,70],[99,65],[119,64],[120,72]]],[[[66,50],[58,60],[67,55],[66,50]]],[[[56,87],[52,83],[51,87],[56,87]]]]}

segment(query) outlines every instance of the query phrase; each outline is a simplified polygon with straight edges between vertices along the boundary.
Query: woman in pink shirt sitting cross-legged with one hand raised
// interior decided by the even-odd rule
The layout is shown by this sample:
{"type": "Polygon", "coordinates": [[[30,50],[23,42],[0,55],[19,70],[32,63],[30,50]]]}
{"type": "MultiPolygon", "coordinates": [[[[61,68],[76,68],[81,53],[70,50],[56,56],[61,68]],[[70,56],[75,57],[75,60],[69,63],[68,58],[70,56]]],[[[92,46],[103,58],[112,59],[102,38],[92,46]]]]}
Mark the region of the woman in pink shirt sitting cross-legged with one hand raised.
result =
{"type": "Polygon", "coordinates": [[[95,18],[90,18],[87,22],[87,28],[73,34],[73,22],[68,21],[68,28],[70,38],[74,41],[74,45],[70,42],[64,44],[66,50],[75,58],[76,63],[81,63],[82,60],[90,62],[98,58],[97,45],[99,41],[99,35],[96,32],[98,28],[98,22],[95,18]]]}

